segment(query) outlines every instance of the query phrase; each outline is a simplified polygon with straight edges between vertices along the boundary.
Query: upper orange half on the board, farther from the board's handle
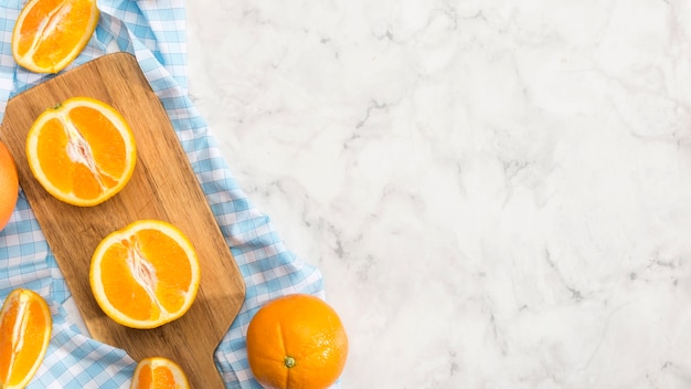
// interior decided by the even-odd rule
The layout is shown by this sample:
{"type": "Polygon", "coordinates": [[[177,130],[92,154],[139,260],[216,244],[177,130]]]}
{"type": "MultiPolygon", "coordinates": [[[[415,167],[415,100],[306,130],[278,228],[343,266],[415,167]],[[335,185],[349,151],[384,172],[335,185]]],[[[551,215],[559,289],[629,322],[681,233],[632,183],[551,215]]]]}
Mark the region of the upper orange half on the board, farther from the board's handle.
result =
{"type": "Polygon", "coordinates": [[[49,193],[73,206],[93,207],[127,185],[137,146],[115,108],[91,97],[72,97],[34,120],[26,159],[49,193]]]}

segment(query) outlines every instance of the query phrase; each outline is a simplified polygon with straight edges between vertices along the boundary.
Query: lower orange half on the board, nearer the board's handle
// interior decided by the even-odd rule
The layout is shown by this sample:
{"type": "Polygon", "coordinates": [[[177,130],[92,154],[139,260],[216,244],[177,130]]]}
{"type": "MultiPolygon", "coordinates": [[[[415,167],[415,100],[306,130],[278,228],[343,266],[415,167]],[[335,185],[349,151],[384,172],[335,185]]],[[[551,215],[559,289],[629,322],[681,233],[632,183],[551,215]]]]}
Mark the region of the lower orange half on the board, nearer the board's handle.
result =
{"type": "Polygon", "coordinates": [[[103,239],[92,256],[96,302],[115,322],[155,328],[190,308],[201,277],[192,243],[177,227],[136,221],[103,239]]]}

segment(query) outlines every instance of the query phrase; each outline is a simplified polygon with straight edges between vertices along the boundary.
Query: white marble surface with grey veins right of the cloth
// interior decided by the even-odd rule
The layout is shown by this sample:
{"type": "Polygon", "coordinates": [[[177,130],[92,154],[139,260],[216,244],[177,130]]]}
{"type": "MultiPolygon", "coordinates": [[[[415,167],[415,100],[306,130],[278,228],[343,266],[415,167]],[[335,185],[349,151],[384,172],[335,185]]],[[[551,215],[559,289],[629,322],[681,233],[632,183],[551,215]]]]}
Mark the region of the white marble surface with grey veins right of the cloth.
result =
{"type": "Polygon", "coordinates": [[[343,388],[691,387],[691,2],[188,3],[343,388]]]}

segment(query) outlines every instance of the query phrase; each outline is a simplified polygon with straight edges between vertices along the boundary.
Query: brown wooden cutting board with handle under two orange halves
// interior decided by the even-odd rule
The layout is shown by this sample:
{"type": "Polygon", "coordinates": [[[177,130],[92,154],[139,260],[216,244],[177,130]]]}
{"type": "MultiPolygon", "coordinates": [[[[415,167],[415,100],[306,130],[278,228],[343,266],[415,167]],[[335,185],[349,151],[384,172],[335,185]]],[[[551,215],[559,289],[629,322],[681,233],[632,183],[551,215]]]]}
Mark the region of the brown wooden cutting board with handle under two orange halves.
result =
{"type": "Polygon", "coordinates": [[[0,139],[10,149],[20,185],[36,215],[91,336],[125,349],[135,360],[163,356],[178,361],[192,388],[223,388],[213,353],[233,323],[245,285],[180,140],[136,59],[127,53],[98,57],[11,98],[0,139]],[[33,120],[73,96],[110,104],[130,124],[137,167],[125,189],[92,208],[63,203],[33,178],[24,145],[33,120]],[[179,227],[194,244],[201,285],[180,319],[156,329],[131,329],[108,318],[92,296],[88,270],[98,242],[140,219],[179,227]]]}

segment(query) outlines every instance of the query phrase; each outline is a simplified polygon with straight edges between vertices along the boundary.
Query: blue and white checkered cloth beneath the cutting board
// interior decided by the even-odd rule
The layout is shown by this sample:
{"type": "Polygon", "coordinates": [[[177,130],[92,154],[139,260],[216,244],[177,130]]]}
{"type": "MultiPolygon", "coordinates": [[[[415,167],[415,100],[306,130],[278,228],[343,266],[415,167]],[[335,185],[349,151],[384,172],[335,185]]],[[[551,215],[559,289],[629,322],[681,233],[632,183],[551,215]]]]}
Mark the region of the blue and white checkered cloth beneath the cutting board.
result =
{"type": "MultiPolygon", "coordinates": [[[[12,29],[23,3],[2,0],[0,4],[0,118],[9,98],[54,76],[28,72],[12,59],[12,29]]],[[[227,388],[261,388],[246,359],[244,335],[249,319],[264,303],[285,294],[323,297],[321,274],[290,252],[269,218],[247,200],[191,103],[184,1],[99,0],[98,8],[96,33],[66,71],[114,51],[136,55],[171,118],[245,280],[245,302],[215,351],[216,365],[227,388]]],[[[0,299],[17,287],[31,288],[49,302],[54,320],[47,355],[29,388],[129,388],[135,361],[81,329],[81,318],[68,308],[70,290],[55,257],[24,193],[19,195],[9,224],[0,231],[0,299]]]]}

